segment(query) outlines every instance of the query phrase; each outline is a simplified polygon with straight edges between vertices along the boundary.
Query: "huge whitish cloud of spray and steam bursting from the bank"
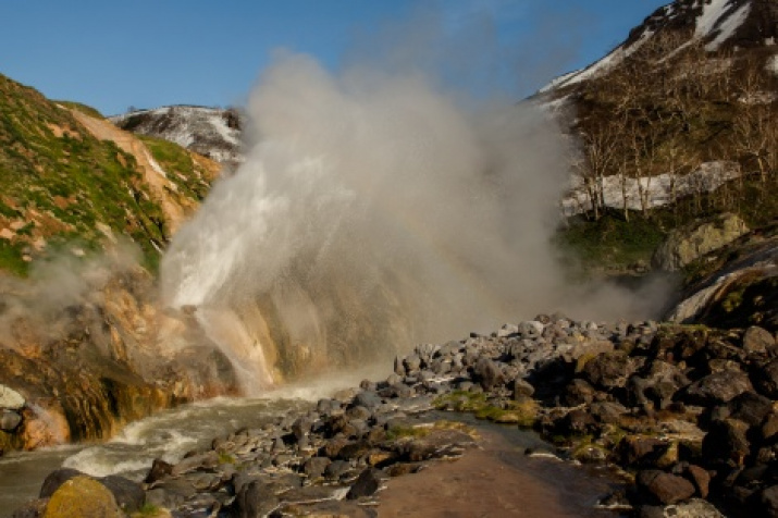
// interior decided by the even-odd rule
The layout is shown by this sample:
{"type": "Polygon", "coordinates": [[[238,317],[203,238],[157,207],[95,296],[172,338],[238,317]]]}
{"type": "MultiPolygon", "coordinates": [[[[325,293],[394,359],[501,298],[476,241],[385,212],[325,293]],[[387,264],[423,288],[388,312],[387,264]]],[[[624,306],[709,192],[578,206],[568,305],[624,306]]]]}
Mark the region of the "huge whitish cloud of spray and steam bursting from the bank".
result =
{"type": "Polygon", "coordinates": [[[555,298],[567,144],[532,107],[466,109],[419,74],[335,77],[286,55],[249,113],[258,143],[175,236],[162,279],[171,306],[238,314],[244,337],[217,342],[243,365],[264,349],[255,385],[555,298]]]}

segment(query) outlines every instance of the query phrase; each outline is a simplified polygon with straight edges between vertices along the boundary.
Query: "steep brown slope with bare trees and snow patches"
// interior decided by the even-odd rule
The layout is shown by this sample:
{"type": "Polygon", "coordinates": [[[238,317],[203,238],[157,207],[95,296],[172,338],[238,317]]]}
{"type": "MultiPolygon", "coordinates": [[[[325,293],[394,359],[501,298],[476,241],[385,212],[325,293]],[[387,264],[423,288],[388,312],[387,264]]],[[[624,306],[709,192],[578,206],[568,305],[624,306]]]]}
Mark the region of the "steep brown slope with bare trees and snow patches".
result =
{"type": "Polygon", "coordinates": [[[535,100],[580,138],[560,240],[589,268],[634,271],[672,229],[778,215],[778,5],[677,0],[535,100]]]}

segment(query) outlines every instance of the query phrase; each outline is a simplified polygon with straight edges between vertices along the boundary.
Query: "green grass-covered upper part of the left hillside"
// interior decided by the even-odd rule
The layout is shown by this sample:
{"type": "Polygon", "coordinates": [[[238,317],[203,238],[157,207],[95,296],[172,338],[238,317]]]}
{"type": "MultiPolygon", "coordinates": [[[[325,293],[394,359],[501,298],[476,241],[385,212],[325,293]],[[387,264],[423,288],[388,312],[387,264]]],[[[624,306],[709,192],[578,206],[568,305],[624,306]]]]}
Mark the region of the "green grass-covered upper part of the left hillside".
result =
{"type": "MultiPolygon", "coordinates": [[[[161,200],[135,157],[95,138],[71,109],[101,118],[0,75],[0,269],[24,275],[36,259],[88,255],[118,235],[156,264],[169,238],[161,200]]],[[[182,196],[202,198],[210,177],[186,151],[148,147],[182,196]]]]}

